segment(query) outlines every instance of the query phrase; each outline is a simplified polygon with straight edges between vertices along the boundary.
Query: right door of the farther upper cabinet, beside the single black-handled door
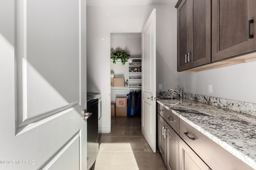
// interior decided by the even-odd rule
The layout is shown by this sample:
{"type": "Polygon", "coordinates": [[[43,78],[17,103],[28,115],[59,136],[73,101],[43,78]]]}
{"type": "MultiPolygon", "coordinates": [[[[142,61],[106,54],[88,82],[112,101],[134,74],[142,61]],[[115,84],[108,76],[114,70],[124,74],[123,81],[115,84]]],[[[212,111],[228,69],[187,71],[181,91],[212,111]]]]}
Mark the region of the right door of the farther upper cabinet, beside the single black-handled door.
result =
{"type": "Polygon", "coordinates": [[[190,68],[211,62],[211,0],[192,0],[190,68]]]}

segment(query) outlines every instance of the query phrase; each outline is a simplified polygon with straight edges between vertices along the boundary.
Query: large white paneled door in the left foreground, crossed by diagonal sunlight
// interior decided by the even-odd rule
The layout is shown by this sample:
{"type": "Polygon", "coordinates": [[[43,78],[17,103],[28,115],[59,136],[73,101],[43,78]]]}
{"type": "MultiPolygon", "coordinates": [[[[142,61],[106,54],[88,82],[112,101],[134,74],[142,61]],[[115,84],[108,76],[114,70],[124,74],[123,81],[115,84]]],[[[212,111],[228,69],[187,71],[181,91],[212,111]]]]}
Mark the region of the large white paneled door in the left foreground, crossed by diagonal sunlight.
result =
{"type": "Polygon", "coordinates": [[[86,169],[86,0],[1,0],[0,169],[86,169]]]}

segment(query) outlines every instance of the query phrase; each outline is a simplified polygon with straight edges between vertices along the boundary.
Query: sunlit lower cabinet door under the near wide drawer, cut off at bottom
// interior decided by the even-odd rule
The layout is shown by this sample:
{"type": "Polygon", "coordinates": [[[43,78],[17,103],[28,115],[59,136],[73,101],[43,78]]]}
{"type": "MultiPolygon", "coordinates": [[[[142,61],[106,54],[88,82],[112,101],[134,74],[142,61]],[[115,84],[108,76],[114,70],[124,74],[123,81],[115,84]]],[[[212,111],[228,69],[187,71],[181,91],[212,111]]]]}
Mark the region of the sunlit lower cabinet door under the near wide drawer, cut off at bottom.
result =
{"type": "Polygon", "coordinates": [[[209,170],[210,168],[197,154],[180,138],[179,170],[209,170]]]}

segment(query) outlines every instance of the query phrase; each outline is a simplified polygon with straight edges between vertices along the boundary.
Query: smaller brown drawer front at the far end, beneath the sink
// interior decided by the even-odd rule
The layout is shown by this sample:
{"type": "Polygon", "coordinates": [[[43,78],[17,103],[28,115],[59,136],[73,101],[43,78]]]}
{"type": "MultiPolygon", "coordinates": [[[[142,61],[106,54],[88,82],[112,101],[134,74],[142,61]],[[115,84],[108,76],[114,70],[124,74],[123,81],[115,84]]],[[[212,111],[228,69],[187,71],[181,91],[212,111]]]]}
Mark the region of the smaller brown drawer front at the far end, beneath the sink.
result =
{"type": "Polygon", "coordinates": [[[158,113],[179,134],[179,117],[160,104],[158,104],[158,113]]]}

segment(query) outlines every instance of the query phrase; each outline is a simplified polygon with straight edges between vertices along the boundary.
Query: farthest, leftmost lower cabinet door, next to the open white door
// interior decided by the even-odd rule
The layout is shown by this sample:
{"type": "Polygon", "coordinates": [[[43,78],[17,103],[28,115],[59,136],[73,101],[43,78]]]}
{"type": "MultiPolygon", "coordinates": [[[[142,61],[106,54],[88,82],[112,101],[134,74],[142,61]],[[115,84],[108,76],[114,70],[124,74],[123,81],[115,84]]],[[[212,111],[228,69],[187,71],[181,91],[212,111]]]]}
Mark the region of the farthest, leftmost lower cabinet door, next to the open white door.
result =
{"type": "Polygon", "coordinates": [[[163,157],[164,163],[166,162],[166,136],[167,136],[167,129],[166,129],[166,122],[164,119],[158,115],[158,125],[159,125],[159,151],[163,157]]]}

